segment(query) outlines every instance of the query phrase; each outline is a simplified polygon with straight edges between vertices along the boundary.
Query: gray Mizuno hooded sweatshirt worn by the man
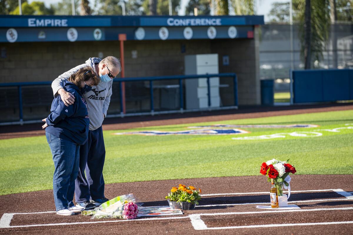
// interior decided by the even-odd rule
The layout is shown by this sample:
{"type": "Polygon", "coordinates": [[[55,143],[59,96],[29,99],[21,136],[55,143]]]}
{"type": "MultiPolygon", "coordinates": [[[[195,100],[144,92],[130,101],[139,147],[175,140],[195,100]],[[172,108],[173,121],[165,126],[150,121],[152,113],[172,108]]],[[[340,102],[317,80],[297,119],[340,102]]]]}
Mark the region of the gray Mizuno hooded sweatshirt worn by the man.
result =
{"type": "MultiPolygon", "coordinates": [[[[99,78],[99,74],[96,71],[95,64],[98,64],[101,61],[100,58],[89,58],[85,64],[80,64],[67,72],[61,74],[52,82],[52,88],[54,97],[58,95],[58,90],[63,88],[62,82],[70,78],[71,74],[76,73],[80,68],[85,66],[90,66],[93,68],[94,72],[99,78]]],[[[89,115],[89,129],[96,130],[98,129],[104,120],[104,116],[107,116],[107,110],[110,103],[110,96],[112,95],[112,84],[113,80],[109,82],[100,82],[97,86],[92,86],[92,90],[86,94],[84,97],[87,102],[87,109],[89,115]]]]}

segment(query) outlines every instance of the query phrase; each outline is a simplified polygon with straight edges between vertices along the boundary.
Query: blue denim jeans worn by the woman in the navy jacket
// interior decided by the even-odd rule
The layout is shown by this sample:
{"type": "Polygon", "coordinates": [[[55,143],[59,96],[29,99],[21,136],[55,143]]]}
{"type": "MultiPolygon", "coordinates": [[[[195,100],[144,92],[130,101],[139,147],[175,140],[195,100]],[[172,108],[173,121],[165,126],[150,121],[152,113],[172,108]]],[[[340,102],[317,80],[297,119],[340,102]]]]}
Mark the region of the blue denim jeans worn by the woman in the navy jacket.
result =
{"type": "Polygon", "coordinates": [[[53,193],[56,211],[73,206],[80,146],[46,132],[54,161],[53,193]]]}

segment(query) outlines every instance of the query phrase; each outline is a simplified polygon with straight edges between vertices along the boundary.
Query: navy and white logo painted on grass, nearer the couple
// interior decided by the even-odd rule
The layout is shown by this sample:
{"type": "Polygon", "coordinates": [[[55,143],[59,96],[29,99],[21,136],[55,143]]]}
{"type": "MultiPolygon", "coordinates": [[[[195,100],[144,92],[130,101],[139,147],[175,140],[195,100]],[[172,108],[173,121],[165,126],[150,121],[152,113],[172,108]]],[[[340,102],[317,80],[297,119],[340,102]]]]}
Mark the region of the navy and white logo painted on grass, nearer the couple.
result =
{"type": "Polygon", "coordinates": [[[249,133],[240,129],[197,129],[186,131],[131,131],[113,133],[114,135],[237,135],[249,133]]]}

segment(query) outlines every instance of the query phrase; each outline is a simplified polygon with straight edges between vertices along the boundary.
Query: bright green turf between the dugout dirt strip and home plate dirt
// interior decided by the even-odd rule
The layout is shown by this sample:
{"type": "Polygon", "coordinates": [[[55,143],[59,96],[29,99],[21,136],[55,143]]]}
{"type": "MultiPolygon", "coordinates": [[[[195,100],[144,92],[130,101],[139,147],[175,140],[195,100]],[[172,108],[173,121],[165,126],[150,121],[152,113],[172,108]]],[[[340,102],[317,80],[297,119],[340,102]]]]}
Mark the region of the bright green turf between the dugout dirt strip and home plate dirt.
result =
{"type": "MultiPolygon", "coordinates": [[[[106,183],[259,175],[262,162],[290,159],[297,174],[353,174],[353,129],[318,137],[232,140],[293,131],[347,127],[353,110],[104,131],[106,183]],[[318,128],[243,128],[223,136],[112,135],[136,130],[186,130],[208,124],[316,124],[318,128]]],[[[45,136],[0,140],[0,195],[52,188],[54,165],[45,136]]]]}

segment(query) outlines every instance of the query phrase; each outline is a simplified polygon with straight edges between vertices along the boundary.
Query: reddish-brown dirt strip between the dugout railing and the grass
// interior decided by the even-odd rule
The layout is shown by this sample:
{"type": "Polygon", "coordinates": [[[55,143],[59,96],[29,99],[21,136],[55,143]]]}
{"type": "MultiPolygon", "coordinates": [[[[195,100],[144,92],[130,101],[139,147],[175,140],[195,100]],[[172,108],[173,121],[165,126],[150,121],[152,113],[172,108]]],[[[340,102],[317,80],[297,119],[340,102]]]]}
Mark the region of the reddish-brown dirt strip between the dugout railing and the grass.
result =
{"type": "MultiPolygon", "coordinates": [[[[294,106],[255,106],[239,107],[238,110],[223,110],[212,112],[195,112],[173,115],[136,116],[125,118],[107,118],[103,122],[103,130],[120,130],[145,126],[174,125],[197,122],[213,122],[219,120],[234,120],[242,118],[260,118],[300,113],[315,113],[339,110],[351,110],[353,103],[319,104],[294,106]]],[[[42,124],[26,124],[23,126],[0,126],[0,140],[17,137],[44,135],[42,124]]]]}

